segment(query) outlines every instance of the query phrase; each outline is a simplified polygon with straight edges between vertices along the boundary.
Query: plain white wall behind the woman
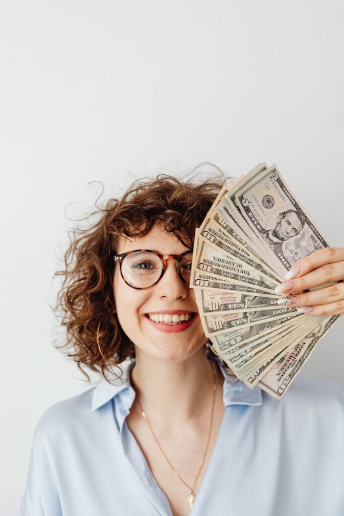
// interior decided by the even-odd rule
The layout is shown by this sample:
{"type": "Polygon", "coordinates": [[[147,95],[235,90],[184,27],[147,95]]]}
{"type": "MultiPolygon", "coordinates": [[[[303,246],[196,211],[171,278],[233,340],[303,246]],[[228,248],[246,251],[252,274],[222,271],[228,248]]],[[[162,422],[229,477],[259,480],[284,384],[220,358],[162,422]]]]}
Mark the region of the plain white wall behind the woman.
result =
{"type": "MultiPolygon", "coordinates": [[[[88,182],[118,193],[202,160],[234,175],[265,160],[344,246],[343,24],[341,0],[1,4],[1,516],[18,514],[42,412],[89,388],[53,348],[48,306],[64,208],[91,206],[88,182]]],[[[343,381],[343,329],[305,374],[343,381]]]]}

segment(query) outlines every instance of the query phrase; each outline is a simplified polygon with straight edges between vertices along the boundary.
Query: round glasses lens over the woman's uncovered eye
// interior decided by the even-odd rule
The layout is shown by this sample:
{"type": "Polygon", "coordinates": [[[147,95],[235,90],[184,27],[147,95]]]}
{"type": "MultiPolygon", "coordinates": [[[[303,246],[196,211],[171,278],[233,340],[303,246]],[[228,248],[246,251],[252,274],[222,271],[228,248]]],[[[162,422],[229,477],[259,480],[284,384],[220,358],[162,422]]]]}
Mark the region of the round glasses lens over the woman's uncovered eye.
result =
{"type": "Polygon", "coordinates": [[[125,256],[122,262],[122,274],[129,285],[145,288],[155,283],[162,271],[162,262],[154,253],[136,251],[125,256]]]}

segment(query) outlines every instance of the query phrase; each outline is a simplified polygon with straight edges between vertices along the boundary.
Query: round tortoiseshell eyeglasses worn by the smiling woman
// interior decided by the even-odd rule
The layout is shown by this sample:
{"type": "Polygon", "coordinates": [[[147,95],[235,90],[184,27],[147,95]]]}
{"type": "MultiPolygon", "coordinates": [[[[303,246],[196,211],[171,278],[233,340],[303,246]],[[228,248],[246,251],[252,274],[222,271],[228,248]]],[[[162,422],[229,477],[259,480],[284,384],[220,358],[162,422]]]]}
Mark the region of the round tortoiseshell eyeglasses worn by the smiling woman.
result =
{"type": "Polygon", "coordinates": [[[149,288],[157,283],[167,267],[167,260],[176,260],[175,267],[183,283],[190,284],[192,250],[183,254],[159,254],[148,249],[136,249],[115,254],[123,280],[133,288],[149,288]]]}

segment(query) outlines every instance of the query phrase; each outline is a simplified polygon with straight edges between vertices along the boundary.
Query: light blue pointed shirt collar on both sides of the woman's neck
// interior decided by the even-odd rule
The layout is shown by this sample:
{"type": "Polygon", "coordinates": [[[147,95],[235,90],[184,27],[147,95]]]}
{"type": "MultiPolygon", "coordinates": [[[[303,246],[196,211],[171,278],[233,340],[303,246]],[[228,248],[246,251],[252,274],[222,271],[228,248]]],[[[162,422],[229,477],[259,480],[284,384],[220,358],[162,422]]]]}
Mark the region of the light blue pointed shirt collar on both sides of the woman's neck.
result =
{"type": "MultiPolygon", "coordinates": [[[[235,376],[232,376],[230,372],[224,366],[223,361],[214,357],[214,360],[219,364],[220,370],[223,374],[223,403],[224,406],[228,405],[261,405],[263,398],[261,395],[260,388],[256,385],[253,389],[250,389],[244,382],[238,380],[235,376]]],[[[110,401],[114,396],[119,394],[126,388],[133,389],[130,384],[130,370],[135,365],[135,360],[127,358],[120,364],[123,371],[122,379],[115,380],[113,383],[109,383],[107,380],[102,380],[96,385],[91,401],[91,411],[99,409],[110,401]]]]}

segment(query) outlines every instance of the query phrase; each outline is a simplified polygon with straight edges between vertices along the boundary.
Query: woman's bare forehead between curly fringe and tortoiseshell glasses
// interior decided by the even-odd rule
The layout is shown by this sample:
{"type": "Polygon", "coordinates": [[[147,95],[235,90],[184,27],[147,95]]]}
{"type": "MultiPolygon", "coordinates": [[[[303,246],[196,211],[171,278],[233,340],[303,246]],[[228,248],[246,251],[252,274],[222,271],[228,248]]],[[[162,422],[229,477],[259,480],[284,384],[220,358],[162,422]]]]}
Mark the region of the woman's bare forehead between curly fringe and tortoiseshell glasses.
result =
{"type": "MultiPolygon", "coordinates": [[[[187,239],[185,239],[187,243],[187,239]]],[[[121,236],[117,243],[117,253],[125,253],[135,249],[151,249],[161,254],[182,254],[189,249],[184,246],[174,233],[168,233],[161,225],[156,224],[145,236],[127,238],[121,236]]]]}

